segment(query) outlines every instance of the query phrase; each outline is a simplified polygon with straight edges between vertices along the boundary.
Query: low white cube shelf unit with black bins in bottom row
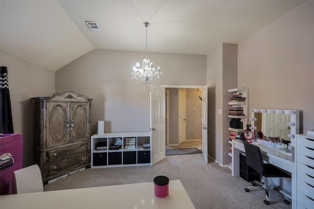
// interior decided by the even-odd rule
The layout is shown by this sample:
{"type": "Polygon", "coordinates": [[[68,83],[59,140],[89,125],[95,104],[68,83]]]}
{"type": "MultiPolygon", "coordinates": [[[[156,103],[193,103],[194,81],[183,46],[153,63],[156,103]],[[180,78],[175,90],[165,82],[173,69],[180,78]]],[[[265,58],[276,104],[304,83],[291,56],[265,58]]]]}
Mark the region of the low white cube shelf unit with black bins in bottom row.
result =
{"type": "Polygon", "coordinates": [[[151,144],[151,132],[95,134],[91,136],[90,143],[91,168],[151,165],[151,148],[144,149],[143,144],[151,144]],[[121,139],[121,147],[109,149],[116,138],[121,139]],[[105,143],[101,144],[101,149],[97,149],[100,142],[105,143]]]}

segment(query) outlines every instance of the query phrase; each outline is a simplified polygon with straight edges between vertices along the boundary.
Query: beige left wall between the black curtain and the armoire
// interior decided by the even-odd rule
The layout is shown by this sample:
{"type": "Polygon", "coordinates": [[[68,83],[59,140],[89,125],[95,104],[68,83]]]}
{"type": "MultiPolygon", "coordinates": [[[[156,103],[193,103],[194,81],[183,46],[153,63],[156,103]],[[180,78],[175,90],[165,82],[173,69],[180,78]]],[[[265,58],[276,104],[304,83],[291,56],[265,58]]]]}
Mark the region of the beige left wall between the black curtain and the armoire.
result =
{"type": "Polygon", "coordinates": [[[25,167],[34,163],[34,106],[31,98],[54,93],[55,73],[2,50],[0,65],[8,69],[14,133],[22,134],[25,167]]]}

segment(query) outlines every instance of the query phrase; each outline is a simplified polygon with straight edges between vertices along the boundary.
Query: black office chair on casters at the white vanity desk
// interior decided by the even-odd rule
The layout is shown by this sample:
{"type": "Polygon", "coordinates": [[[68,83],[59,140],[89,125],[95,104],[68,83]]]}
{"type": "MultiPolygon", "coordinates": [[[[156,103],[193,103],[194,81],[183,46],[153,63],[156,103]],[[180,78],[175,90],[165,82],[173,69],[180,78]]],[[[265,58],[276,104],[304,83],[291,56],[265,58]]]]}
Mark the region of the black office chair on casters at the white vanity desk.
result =
{"type": "Polygon", "coordinates": [[[275,165],[264,163],[262,159],[262,153],[261,153],[260,147],[255,146],[246,141],[243,141],[243,144],[244,144],[245,154],[246,154],[246,163],[249,166],[251,166],[254,170],[256,170],[258,173],[260,173],[261,176],[263,177],[263,181],[261,182],[253,181],[251,185],[246,187],[244,190],[246,192],[249,192],[250,188],[253,186],[264,188],[265,193],[266,193],[266,200],[264,200],[264,203],[266,205],[269,205],[268,190],[271,190],[284,196],[286,198],[284,202],[287,205],[289,205],[290,204],[289,198],[279,191],[279,188],[273,184],[271,179],[270,179],[271,183],[269,183],[268,178],[271,178],[271,177],[291,178],[291,175],[284,172],[283,170],[276,167],[275,165]]]}

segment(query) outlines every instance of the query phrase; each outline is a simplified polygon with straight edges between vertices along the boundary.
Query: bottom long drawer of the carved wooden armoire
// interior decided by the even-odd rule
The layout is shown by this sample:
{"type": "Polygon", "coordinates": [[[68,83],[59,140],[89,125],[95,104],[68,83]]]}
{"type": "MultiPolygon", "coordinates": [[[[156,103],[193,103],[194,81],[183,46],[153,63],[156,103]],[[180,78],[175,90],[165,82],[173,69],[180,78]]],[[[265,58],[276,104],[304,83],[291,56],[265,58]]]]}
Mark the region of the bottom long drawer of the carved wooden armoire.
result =
{"type": "Polygon", "coordinates": [[[70,159],[68,161],[62,163],[52,163],[47,166],[47,175],[62,175],[68,171],[73,170],[73,167],[78,167],[79,165],[87,165],[89,163],[89,153],[85,153],[84,155],[77,156],[76,158],[70,159]],[[62,172],[58,174],[59,172],[62,172]]]}

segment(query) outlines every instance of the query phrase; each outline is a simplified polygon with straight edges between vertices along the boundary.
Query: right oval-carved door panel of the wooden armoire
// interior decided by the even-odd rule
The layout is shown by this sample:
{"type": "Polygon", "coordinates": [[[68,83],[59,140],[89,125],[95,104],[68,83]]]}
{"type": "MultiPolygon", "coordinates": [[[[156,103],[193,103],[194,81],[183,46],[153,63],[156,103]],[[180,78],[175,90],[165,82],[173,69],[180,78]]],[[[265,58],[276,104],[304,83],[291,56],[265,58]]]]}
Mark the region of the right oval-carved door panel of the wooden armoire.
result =
{"type": "Polygon", "coordinates": [[[89,139],[88,103],[71,102],[71,142],[89,139]]]}

